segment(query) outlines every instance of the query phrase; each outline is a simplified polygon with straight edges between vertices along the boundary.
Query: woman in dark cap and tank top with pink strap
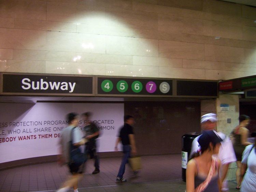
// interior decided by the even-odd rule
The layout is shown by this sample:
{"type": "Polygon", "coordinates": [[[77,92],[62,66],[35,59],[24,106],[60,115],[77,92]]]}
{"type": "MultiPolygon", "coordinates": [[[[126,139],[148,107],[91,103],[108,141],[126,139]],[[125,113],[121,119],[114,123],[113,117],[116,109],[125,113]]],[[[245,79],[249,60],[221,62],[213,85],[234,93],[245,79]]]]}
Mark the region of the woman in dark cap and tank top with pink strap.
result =
{"type": "Polygon", "coordinates": [[[204,131],[199,137],[200,150],[194,153],[187,163],[187,192],[216,192],[221,190],[218,174],[221,161],[213,154],[218,154],[222,141],[222,138],[214,130],[204,131]]]}

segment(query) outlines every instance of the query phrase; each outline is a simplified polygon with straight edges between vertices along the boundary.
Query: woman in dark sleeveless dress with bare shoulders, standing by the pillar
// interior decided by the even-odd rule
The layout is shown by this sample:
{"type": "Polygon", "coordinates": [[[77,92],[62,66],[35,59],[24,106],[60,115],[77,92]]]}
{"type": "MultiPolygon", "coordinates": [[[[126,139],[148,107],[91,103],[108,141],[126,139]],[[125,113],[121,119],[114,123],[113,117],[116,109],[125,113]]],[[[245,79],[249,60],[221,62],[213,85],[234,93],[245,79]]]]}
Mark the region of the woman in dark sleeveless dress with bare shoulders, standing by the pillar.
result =
{"type": "Polygon", "coordinates": [[[236,171],[236,179],[237,179],[237,187],[236,189],[240,189],[240,169],[241,169],[241,160],[242,154],[247,145],[251,145],[251,142],[247,141],[247,137],[249,134],[249,130],[246,128],[250,123],[250,117],[247,115],[239,116],[239,125],[232,131],[232,136],[234,137],[234,151],[237,157],[237,171],[236,171]]]}

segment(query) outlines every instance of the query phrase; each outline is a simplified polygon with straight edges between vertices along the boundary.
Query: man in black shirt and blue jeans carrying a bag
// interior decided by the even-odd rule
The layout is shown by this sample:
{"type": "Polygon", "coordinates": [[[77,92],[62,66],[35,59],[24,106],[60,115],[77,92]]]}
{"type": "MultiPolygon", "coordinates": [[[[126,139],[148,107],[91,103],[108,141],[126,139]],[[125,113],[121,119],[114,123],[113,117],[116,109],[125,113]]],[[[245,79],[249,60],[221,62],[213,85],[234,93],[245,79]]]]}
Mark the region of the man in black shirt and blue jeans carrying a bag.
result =
{"type": "Polygon", "coordinates": [[[135,123],[134,118],[130,115],[126,115],[124,120],[125,120],[124,127],[120,129],[120,134],[116,139],[116,143],[115,143],[115,151],[118,151],[117,145],[119,142],[122,142],[123,144],[124,156],[116,177],[116,180],[120,182],[126,182],[126,179],[123,177],[123,175],[125,173],[125,164],[128,163],[128,159],[131,156],[131,152],[137,153],[133,129],[132,129],[132,125],[135,123]]]}

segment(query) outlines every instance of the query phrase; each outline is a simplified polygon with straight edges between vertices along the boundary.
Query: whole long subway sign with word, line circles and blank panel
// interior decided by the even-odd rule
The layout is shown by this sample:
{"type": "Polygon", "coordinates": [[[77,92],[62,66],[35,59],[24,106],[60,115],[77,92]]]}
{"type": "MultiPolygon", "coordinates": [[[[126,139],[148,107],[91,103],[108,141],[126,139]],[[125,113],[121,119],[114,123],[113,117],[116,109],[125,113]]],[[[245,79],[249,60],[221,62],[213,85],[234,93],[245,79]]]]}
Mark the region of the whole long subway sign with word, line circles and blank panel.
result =
{"type": "Polygon", "coordinates": [[[0,73],[0,95],[216,98],[217,87],[211,80],[0,73]]]}

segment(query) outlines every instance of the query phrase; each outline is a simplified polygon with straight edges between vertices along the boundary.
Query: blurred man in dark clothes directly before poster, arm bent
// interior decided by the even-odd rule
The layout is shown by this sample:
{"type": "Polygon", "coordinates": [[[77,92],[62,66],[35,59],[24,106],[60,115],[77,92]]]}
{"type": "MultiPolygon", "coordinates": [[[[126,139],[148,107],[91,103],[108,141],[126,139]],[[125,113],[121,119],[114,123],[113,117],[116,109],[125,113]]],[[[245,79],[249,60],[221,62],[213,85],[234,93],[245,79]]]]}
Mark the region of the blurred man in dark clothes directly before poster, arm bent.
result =
{"type": "Polygon", "coordinates": [[[99,157],[96,151],[96,139],[99,137],[99,128],[90,121],[90,112],[83,113],[82,115],[85,120],[85,138],[88,139],[88,142],[85,144],[86,153],[87,155],[89,154],[90,159],[95,159],[93,174],[97,174],[100,173],[99,157]]]}

